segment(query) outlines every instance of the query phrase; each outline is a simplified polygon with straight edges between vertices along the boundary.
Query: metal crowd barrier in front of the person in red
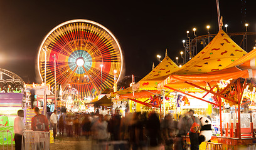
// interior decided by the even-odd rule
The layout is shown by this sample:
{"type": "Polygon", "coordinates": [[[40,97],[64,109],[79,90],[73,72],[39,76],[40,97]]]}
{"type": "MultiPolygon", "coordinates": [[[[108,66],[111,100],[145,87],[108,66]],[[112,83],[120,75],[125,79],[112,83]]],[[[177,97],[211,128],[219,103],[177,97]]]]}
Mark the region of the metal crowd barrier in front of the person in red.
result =
{"type": "Polygon", "coordinates": [[[22,150],[50,149],[50,133],[43,131],[24,131],[22,150]]]}

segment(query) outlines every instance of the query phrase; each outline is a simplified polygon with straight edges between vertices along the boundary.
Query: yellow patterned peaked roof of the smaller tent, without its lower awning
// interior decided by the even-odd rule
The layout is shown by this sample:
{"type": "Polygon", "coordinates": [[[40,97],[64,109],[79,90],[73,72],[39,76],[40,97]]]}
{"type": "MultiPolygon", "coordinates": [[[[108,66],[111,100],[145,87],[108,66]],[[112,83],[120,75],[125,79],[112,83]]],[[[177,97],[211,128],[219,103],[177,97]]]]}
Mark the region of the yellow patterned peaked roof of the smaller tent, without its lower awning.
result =
{"type": "Polygon", "coordinates": [[[169,56],[165,56],[163,61],[159,63],[156,68],[142,78],[136,85],[137,88],[149,89],[156,88],[157,84],[166,79],[171,73],[174,73],[179,67],[175,64],[169,56]],[[139,87],[138,87],[139,86],[139,87]]]}

